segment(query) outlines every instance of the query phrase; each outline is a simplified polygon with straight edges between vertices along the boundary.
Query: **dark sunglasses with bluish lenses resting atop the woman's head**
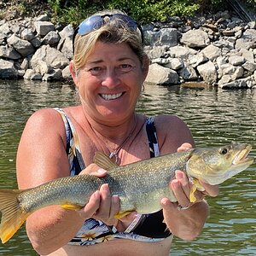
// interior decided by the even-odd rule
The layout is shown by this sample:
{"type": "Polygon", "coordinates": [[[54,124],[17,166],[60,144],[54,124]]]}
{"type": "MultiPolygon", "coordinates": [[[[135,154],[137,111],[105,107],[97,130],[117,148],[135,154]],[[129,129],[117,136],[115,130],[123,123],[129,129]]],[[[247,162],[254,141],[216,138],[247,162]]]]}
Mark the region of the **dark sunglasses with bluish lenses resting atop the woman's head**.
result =
{"type": "Polygon", "coordinates": [[[137,21],[133,20],[131,17],[127,15],[121,15],[121,14],[93,15],[93,16],[90,16],[88,19],[84,20],[75,29],[73,33],[73,53],[74,53],[74,40],[76,35],[79,34],[80,36],[84,36],[104,26],[106,24],[106,21],[104,20],[105,17],[109,17],[109,20],[116,20],[116,19],[123,20],[125,24],[133,31],[136,31],[138,28],[142,35],[142,42],[144,41],[142,26],[140,26],[137,23],[137,21]]]}

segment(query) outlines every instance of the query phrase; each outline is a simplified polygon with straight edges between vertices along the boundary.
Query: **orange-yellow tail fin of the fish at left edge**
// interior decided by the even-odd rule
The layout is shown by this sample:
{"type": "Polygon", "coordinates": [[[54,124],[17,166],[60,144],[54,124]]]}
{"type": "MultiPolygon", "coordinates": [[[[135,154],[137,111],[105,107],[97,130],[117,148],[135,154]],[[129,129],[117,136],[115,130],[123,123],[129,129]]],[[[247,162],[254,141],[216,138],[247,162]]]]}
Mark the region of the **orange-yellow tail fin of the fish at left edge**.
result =
{"type": "Polygon", "coordinates": [[[0,189],[0,238],[3,243],[15,235],[20,226],[32,212],[25,212],[20,207],[18,195],[22,190],[0,189]]]}

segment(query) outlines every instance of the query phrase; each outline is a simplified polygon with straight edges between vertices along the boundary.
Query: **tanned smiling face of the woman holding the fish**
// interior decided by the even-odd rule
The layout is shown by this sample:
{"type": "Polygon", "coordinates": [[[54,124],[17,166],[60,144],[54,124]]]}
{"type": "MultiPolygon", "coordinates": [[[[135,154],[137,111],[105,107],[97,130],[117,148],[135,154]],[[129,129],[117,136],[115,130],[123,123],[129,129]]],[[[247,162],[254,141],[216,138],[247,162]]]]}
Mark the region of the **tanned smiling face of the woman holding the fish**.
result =
{"type": "Polygon", "coordinates": [[[85,113],[100,122],[130,117],[147,73],[146,58],[142,65],[127,44],[97,42],[74,79],[85,113]]]}

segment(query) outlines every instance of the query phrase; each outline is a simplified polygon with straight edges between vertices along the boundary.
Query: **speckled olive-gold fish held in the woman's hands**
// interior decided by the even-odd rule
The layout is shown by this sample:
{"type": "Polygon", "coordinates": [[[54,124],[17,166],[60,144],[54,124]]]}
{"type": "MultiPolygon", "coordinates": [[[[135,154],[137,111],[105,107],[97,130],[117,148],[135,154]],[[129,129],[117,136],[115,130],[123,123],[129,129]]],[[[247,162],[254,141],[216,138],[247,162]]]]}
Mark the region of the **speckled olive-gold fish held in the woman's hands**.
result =
{"type": "Polygon", "coordinates": [[[105,177],[85,174],[57,178],[32,189],[0,189],[1,241],[9,241],[26,218],[40,208],[59,205],[80,210],[103,183],[108,183],[111,195],[119,195],[120,210],[115,218],[133,211],[140,214],[160,211],[163,197],[177,201],[169,187],[176,170],[183,170],[193,180],[189,200],[195,202],[195,190],[204,190],[199,180],[215,185],[242,172],[254,162],[248,156],[251,149],[250,144],[242,143],[190,148],[125,166],[118,166],[106,154],[96,152],[94,162],[108,170],[105,177]]]}

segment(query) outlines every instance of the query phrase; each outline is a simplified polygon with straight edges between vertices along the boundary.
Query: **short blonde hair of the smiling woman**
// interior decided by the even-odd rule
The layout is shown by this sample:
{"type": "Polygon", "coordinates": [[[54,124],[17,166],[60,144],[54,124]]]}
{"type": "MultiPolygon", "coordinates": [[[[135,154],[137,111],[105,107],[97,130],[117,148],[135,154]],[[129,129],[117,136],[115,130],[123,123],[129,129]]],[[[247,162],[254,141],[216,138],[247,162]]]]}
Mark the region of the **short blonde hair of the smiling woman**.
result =
{"type": "MultiPolygon", "coordinates": [[[[113,15],[124,13],[119,10],[105,10],[96,13],[95,15],[107,14],[113,15]]],[[[141,63],[143,63],[143,42],[139,29],[137,28],[137,31],[131,30],[131,28],[125,24],[125,21],[120,19],[109,20],[109,17],[106,16],[104,17],[104,20],[106,21],[106,24],[95,31],[84,36],[80,36],[79,34],[76,35],[73,55],[73,66],[76,71],[79,71],[79,69],[84,66],[97,41],[113,44],[126,43],[131,47],[141,63]]]]}

